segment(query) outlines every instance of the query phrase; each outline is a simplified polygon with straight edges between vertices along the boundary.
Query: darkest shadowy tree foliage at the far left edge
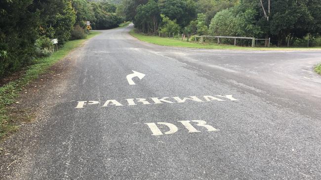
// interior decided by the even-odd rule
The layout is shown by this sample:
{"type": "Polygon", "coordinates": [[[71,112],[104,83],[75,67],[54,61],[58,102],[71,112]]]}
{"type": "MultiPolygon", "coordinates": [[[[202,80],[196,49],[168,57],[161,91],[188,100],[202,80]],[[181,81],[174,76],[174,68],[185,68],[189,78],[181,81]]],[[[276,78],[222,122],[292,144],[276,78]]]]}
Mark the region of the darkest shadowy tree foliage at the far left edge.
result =
{"type": "Polygon", "coordinates": [[[0,1],[0,78],[30,64],[35,56],[39,12],[32,0],[0,1]]]}

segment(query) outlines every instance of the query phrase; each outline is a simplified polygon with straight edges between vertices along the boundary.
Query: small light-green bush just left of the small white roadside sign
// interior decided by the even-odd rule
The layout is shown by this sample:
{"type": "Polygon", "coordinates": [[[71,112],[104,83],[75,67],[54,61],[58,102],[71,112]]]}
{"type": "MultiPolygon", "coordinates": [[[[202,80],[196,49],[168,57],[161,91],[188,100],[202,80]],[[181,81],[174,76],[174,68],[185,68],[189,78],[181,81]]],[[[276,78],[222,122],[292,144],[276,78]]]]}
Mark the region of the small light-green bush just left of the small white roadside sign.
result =
{"type": "Polygon", "coordinates": [[[36,40],[35,47],[37,57],[48,57],[53,52],[53,44],[46,36],[40,36],[36,40]]]}

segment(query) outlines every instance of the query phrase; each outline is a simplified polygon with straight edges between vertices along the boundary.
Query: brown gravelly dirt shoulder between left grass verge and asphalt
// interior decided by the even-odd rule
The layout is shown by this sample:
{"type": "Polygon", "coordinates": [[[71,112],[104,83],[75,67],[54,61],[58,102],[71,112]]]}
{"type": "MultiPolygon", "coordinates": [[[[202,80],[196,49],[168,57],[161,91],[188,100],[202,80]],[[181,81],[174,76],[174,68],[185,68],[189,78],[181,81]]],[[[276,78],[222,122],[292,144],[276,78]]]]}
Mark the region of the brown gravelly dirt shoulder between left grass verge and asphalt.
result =
{"type": "MultiPolygon", "coordinates": [[[[6,138],[0,142],[1,180],[12,179],[14,166],[24,160],[24,154],[28,153],[28,150],[22,150],[19,147],[31,144],[35,145],[33,148],[37,148],[36,143],[30,138],[37,134],[38,127],[34,122],[41,120],[41,116],[46,112],[45,102],[49,96],[48,93],[50,94],[57,85],[62,84],[70,76],[76,60],[73,57],[77,52],[76,50],[58,61],[48,69],[47,73],[40,75],[38,79],[24,87],[16,102],[8,107],[10,116],[20,130],[7,134],[6,138]]],[[[57,95],[55,98],[60,96],[57,95]]]]}

